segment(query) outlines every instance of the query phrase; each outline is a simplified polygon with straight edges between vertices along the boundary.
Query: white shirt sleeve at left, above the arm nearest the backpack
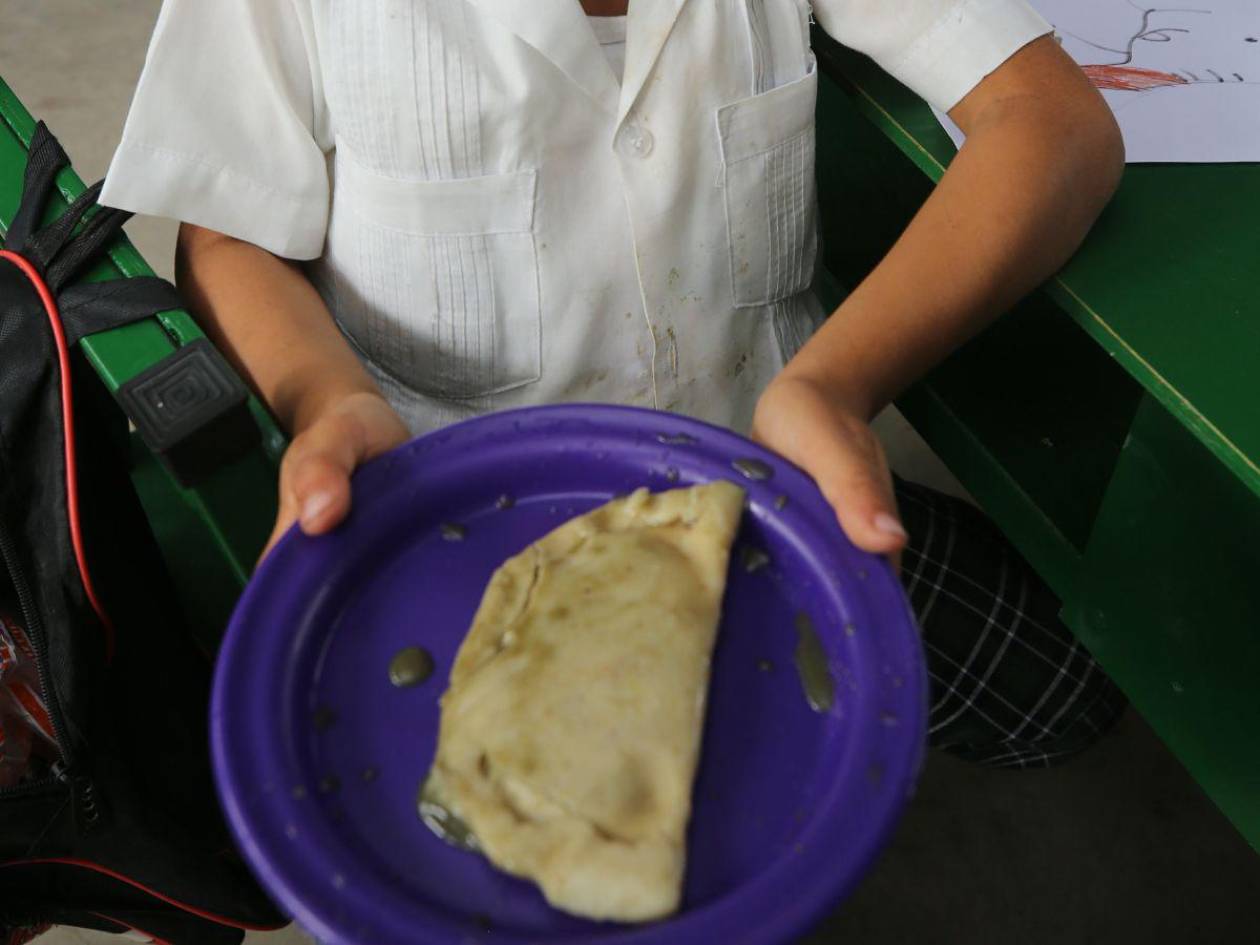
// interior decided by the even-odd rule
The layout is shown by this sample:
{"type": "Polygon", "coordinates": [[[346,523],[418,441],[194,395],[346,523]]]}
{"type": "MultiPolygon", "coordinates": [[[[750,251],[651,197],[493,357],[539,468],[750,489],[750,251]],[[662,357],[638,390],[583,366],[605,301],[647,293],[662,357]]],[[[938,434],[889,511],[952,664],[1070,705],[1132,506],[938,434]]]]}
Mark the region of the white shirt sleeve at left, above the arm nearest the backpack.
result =
{"type": "Polygon", "coordinates": [[[305,0],[164,0],[101,202],[314,258],[330,136],[305,0]]]}

